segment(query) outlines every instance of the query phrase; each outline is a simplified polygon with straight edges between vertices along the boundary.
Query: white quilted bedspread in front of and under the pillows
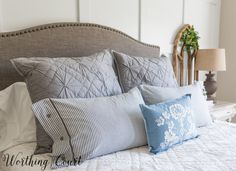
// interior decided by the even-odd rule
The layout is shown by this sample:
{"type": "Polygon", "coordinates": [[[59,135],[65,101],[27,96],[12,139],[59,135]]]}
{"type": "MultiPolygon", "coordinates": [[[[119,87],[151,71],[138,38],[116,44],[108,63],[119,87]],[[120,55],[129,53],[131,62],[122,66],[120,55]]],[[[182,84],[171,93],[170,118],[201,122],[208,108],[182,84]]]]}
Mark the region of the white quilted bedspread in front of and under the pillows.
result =
{"type": "MultiPolygon", "coordinates": [[[[200,137],[177,145],[161,154],[152,155],[146,146],[117,152],[84,162],[80,166],[59,169],[66,171],[138,171],[138,170],[236,170],[236,124],[216,122],[212,126],[199,128],[200,137]]],[[[112,142],[111,142],[112,143],[112,142]]],[[[4,154],[31,155],[35,143],[13,147],[4,154]]],[[[50,157],[37,155],[33,160],[48,160],[47,169],[50,170],[50,157]]],[[[1,160],[2,161],[2,160],[1,160]]],[[[1,171],[36,171],[43,166],[8,166],[2,162],[1,171]]]]}

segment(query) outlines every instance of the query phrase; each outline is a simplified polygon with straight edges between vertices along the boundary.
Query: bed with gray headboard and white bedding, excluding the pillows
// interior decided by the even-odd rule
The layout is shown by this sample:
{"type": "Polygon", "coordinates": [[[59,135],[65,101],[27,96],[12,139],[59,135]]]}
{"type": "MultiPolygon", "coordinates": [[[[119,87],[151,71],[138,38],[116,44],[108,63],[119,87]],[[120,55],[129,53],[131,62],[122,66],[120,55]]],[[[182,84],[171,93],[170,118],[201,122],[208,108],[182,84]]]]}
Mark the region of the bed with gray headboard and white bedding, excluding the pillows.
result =
{"type": "MultiPolygon", "coordinates": [[[[158,46],[139,42],[113,28],[97,24],[56,23],[1,33],[0,89],[23,81],[22,76],[9,61],[12,58],[84,56],[106,48],[129,55],[149,57],[158,57],[160,53],[158,46]]],[[[236,125],[216,121],[197,130],[199,138],[176,145],[157,155],[150,154],[147,146],[142,146],[96,157],[79,166],[58,170],[235,170],[236,125]]],[[[2,151],[0,170],[50,170],[49,154],[33,155],[35,147],[36,143],[30,142],[2,151]],[[14,162],[19,160],[19,163],[7,165],[7,156],[14,155],[14,162]],[[26,164],[27,159],[35,163],[32,166],[26,164]]]]}

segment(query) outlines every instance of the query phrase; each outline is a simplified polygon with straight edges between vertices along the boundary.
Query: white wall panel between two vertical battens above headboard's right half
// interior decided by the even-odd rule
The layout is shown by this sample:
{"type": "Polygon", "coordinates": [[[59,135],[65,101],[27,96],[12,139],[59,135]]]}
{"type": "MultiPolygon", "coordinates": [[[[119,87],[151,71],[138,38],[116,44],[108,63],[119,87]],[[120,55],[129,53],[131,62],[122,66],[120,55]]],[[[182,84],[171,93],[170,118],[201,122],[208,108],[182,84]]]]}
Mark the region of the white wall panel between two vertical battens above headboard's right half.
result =
{"type": "Polygon", "coordinates": [[[80,22],[97,23],[138,39],[138,0],[80,0],[80,22]]]}

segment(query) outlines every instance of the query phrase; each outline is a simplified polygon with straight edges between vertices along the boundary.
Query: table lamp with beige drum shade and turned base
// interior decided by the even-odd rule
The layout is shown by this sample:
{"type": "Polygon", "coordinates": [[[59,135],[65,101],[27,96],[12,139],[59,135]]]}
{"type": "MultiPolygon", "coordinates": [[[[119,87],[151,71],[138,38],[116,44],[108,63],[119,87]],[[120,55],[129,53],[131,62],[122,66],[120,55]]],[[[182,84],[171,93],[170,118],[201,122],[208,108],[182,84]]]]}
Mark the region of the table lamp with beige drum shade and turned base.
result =
{"type": "Polygon", "coordinates": [[[225,71],[225,49],[199,49],[196,56],[195,70],[209,71],[206,74],[204,86],[207,93],[207,100],[215,101],[217,83],[213,71],[225,71]]]}

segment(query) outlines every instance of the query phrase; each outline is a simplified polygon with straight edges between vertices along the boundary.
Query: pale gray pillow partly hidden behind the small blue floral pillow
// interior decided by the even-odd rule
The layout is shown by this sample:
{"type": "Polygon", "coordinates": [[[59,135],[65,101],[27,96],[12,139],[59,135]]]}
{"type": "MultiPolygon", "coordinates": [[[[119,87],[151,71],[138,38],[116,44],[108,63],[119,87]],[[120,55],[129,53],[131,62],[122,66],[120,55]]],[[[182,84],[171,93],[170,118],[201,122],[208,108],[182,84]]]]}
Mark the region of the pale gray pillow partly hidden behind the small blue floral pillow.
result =
{"type": "Polygon", "coordinates": [[[191,94],[196,126],[202,127],[212,123],[207,102],[199,83],[177,88],[141,85],[140,90],[146,104],[161,103],[166,100],[179,98],[185,94],[191,94]]]}

